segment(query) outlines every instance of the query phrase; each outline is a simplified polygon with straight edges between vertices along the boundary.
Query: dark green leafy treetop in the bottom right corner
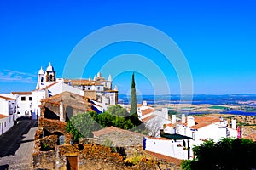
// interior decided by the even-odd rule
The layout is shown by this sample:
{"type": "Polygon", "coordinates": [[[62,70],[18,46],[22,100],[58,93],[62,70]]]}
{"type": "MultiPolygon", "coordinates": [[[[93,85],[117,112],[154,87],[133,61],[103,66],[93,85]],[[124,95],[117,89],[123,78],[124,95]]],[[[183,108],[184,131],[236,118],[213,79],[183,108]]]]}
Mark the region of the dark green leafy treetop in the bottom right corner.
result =
{"type": "Polygon", "coordinates": [[[256,142],[249,139],[209,140],[193,148],[195,159],[183,161],[181,167],[194,169],[255,169],[256,142]]]}

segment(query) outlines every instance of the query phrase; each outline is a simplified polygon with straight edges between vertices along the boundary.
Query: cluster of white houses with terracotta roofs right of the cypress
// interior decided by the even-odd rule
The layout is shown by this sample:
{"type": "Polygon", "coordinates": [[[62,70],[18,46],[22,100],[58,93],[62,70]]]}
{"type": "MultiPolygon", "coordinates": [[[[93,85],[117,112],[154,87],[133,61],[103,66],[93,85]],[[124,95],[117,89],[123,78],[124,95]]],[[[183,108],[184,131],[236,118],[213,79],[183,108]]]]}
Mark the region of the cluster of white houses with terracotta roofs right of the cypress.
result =
{"type": "Polygon", "coordinates": [[[145,122],[151,137],[143,139],[143,149],[177,159],[191,159],[193,146],[213,139],[218,142],[224,137],[241,137],[236,119],[231,126],[223,118],[214,116],[168,116],[167,109],[157,111],[143,102],[137,108],[139,118],[145,122]]]}

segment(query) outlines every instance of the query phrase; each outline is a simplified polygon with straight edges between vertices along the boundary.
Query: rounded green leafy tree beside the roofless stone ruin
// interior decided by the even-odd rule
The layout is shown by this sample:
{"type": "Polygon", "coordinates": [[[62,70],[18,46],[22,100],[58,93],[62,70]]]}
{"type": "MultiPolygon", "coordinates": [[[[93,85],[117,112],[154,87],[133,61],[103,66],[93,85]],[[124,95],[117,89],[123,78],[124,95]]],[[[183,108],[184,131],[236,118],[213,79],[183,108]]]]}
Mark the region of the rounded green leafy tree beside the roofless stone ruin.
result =
{"type": "Polygon", "coordinates": [[[73,134],[73,140],[77,142],[80,138],[92,137],[92,132],[100,128],[96,121],[90,116],[95,114],[95,111],[79,113],[72,116],[67,122],[67,132],[73,134]]]}

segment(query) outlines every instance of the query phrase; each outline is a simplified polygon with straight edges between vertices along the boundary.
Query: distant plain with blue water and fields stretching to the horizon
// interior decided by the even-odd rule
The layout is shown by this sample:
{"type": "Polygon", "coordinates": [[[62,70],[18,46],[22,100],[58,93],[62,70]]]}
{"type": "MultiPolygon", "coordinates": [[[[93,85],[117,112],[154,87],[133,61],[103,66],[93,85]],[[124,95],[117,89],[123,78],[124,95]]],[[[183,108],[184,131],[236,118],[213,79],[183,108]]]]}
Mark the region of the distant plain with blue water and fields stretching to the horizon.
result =
{"type": "MultiPolygon", "coordinates": [[[[189,95],[181,98],[179,94],[137,95],[137,103],[143,100],[148,105],[160,108],[166,105],[169,110],[177,110],[185,114],[233,114],[256,116],[256,94],[195,94],[192,100],[189,95]],[[177,104],[180,104],[179,106],[177,104]]],[[[119,94],[119,104],[129,105],[131,96],[119,94]]]]}

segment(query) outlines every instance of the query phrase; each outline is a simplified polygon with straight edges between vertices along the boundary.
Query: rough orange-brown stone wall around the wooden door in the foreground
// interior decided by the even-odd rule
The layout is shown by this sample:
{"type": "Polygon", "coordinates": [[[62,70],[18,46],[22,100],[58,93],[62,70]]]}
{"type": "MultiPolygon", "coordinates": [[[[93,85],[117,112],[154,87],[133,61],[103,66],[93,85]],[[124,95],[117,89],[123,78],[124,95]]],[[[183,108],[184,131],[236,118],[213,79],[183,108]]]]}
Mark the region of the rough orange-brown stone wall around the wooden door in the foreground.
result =
{"type": "Polygon", "coordinates": [[[57,146],[56,150],[34,152],[33,169],[66,169],[67,156],[79,157],[79,169],[125,169],[122,156],[108,147],[93,144],[57,146]]]}

